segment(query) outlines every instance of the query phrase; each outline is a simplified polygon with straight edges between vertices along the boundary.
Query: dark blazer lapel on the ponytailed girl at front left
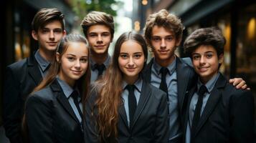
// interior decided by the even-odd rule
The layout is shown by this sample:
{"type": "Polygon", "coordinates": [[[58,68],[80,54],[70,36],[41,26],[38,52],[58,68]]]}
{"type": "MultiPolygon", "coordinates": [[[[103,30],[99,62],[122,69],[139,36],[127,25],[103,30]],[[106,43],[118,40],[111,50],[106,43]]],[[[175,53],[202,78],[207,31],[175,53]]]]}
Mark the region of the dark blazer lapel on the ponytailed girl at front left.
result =
{"type": "Polygon", "coordinates": [[[65,97],[65,94],[62,92],[62,89],[60,87],[60,84],[55,79],[54,82],[50,85],[53,92],[56,92],[57,94],[57,100],[62,104],[62,107],[67,111],[67,113],[70,114],[70,116],[75,119],[77,123],[80,124],[79,120],[77,119],[77,116],[75,115],[75,112],[73,111],[72,107],[70,106],[70,102],[68,102],[67,97],[65,97]]]}

